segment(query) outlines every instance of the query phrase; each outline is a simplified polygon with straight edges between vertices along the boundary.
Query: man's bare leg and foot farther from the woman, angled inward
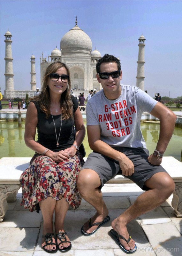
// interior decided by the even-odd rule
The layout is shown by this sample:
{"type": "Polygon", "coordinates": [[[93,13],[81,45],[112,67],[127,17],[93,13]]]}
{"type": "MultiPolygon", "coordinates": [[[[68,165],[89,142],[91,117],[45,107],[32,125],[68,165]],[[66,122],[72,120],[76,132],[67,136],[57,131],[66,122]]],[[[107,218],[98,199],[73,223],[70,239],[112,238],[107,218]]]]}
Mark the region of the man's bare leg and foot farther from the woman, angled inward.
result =
{"type": "MultiPolygon", "coordinates": [[[[112,228],[126,238],[129,237],[126,225],[138,216],[155,209],[161,205],[174,191],[175,184],[168,173],[158,172],[155,173],[150,179],[145,181],[145,186],[150,190],[141,194],[133,205],[131,205],[125,212],[123,212],[118,218],[112,221],[112,228]]],[[[133,239],[128,244],[120,238],[121,244],[126,250],[134,248],[133,239]]]]}

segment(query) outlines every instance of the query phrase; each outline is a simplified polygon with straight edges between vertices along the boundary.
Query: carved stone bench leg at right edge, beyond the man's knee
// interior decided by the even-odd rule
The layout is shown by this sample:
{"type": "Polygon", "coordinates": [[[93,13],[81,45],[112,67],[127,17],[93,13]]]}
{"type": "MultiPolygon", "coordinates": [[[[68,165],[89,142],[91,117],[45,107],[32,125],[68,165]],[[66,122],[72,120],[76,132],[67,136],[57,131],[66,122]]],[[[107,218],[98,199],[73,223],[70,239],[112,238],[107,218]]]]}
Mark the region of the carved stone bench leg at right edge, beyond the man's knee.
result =
{"type": "Polygon", "coordinates": [[[182,182],[175,182],[175,190],[171,204],[176,217],[182,217],[182,182]]]}

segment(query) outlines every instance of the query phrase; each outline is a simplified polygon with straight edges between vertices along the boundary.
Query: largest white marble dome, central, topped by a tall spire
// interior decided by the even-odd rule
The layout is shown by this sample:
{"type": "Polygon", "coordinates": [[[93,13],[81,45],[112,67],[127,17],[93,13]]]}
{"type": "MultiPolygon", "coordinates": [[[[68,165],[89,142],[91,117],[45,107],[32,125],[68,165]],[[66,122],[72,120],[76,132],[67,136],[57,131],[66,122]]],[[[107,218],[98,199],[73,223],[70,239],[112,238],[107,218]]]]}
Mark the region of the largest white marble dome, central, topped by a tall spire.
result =
{"type": "Polygon", "coordinates": [[[82,52],[90,54],[92,41],[90,37],[77,25],[70,29],[61,39],[60,49],[62,54],[68,52],[82,52]]]}

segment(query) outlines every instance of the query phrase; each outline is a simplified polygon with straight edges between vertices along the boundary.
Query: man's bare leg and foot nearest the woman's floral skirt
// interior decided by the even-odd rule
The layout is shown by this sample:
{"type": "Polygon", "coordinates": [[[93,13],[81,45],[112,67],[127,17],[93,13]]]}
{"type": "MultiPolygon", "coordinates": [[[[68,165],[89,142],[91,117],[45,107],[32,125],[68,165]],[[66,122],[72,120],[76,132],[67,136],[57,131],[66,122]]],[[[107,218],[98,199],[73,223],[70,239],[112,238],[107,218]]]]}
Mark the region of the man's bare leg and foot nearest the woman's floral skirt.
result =
{"type": "MultiPolygon", "coordinates": [[[[96,209],[91,219],[91,224],[101,222],[107,215],[108,209],[103,201],[102,192],[99,189],[101,180],[99,175],[91,169],[82,169],[77,180],[77,188],[81,196],[96,209]]],[[[88,234],[94,231],[98,225],[89,228],[88,221],[84,224],[84,231],[88,234]]]]}

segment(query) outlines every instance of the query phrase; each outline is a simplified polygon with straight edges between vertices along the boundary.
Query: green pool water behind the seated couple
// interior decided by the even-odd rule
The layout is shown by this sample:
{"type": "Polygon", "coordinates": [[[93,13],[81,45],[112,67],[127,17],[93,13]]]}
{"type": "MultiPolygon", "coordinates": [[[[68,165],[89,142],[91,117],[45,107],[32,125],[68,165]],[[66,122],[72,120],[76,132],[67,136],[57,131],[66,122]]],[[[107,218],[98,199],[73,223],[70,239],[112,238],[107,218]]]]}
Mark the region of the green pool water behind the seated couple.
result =
{"type": "MultiPolygon", "coordinates": [[[[159,124],[141,124],[142,135],[146,141],[150,154],[153,153],[159,137],[159,124]]],[[[24,142],[25,122],[22,128],[18,122],[0,123],[0,158],[2,157],[32,157],[34,151],[28,148],[24,142]]],[[[37,138],[35,138],[37,139],[37,138]]],[[[89,148],[87,134],[83,141],[86,156],[92,150],[89,148]]],[[[175,127],[171,141],[164,156],[173,156],[182,161],[182,129],[175,127]]]]}

